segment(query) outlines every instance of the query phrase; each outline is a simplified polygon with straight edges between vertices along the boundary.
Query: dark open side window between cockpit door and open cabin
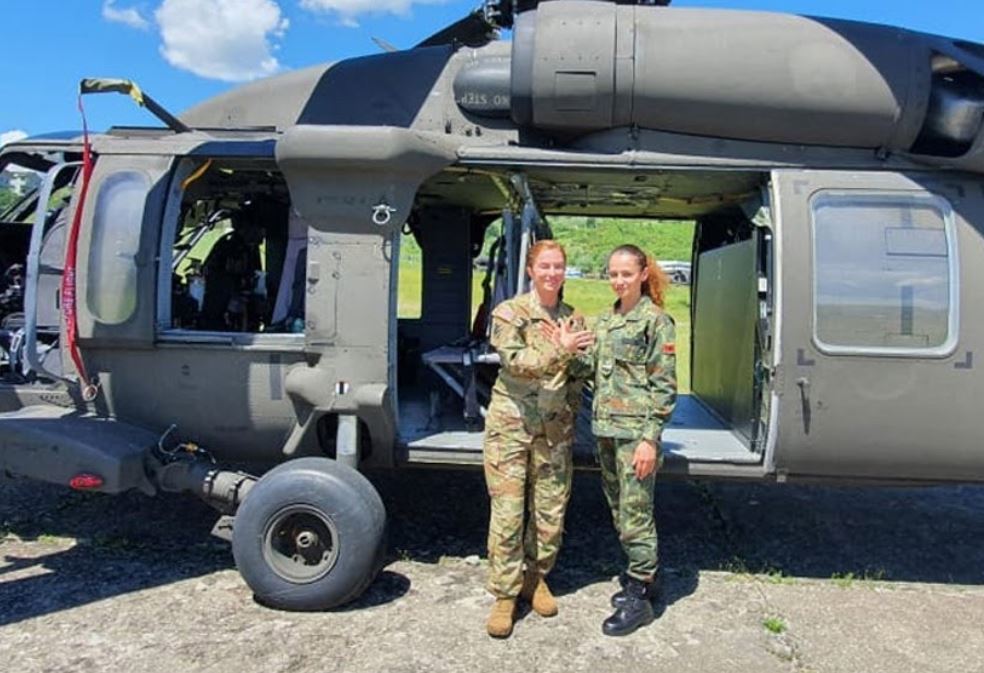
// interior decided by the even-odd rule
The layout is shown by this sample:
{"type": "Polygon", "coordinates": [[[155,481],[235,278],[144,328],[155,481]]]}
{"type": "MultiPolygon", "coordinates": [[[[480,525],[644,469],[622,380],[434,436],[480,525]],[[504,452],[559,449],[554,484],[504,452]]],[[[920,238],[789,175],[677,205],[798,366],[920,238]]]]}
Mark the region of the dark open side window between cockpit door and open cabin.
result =
{"type": "Polygon", "coordinates": [[[182,183],[165,329],[303,332],[307,238],[289,214],[272,161],[196,159],[182,183]]]}

